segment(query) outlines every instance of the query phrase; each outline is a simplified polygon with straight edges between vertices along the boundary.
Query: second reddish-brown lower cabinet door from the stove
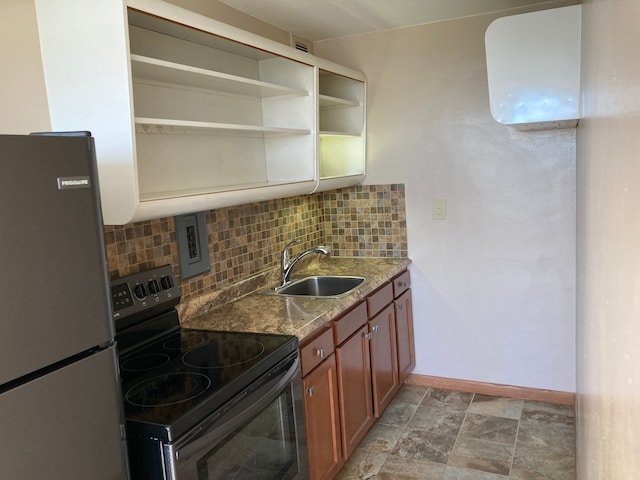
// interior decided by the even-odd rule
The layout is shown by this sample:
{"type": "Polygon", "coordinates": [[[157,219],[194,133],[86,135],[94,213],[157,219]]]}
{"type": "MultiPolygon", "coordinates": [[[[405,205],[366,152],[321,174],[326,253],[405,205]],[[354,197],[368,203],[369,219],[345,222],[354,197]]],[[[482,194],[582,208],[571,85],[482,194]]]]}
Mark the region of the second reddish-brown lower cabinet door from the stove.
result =
{"type": "Polygon", "coordinates": [[[340,427],[345,460],[373,425],[369,332],[363,326],[336,348],[340,427]]]}

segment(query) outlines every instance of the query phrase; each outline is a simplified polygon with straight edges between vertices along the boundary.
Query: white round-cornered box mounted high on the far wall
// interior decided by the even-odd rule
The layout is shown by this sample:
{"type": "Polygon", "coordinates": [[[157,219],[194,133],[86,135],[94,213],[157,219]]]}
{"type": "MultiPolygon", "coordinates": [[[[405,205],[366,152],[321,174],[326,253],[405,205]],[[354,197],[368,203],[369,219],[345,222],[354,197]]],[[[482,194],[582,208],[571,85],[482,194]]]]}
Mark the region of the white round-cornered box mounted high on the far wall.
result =
{"type": "Polygon", "coordinates": [[[485,34],[493,118],[517,130],[571,128],[580,117],[581,6],[499,18],[485,34]]]}

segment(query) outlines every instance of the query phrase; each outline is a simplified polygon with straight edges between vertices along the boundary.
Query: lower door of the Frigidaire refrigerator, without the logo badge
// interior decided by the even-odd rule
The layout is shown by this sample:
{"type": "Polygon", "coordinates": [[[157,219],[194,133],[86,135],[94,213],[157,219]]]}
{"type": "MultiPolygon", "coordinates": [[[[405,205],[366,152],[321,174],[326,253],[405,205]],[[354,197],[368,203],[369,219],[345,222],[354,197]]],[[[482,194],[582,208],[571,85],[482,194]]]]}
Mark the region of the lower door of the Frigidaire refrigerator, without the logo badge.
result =
{"type": "Polygon", "coordinates": [[[0,394],[0,478],[126,479],[114,347],[0,394]]]}

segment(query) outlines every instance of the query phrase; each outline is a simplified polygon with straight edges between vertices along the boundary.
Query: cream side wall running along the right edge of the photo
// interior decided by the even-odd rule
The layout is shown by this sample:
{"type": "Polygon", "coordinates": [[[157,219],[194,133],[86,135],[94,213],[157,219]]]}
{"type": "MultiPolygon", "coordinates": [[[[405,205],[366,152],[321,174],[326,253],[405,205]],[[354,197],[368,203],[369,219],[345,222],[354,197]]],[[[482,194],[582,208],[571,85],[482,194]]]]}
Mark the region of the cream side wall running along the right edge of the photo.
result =
{"type": "Polygon", "coordinates": [[[640,478],[640,2],[585,1],[578,129],[580,480],[640,478]]]}

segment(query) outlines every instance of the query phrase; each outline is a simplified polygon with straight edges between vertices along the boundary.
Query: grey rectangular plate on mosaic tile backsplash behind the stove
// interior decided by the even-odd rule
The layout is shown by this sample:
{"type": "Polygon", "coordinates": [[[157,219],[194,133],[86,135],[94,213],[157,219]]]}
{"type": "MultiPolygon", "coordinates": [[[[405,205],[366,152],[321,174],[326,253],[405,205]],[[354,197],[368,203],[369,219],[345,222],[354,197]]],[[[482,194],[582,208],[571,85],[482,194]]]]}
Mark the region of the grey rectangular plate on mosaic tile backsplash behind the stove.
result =
{"type": "Polygon", "coordinates": [[[207,222],[204,212],[174,217],[180,276],[192,278],[211,271],[207,222]]]}

